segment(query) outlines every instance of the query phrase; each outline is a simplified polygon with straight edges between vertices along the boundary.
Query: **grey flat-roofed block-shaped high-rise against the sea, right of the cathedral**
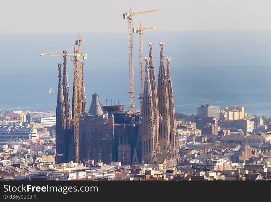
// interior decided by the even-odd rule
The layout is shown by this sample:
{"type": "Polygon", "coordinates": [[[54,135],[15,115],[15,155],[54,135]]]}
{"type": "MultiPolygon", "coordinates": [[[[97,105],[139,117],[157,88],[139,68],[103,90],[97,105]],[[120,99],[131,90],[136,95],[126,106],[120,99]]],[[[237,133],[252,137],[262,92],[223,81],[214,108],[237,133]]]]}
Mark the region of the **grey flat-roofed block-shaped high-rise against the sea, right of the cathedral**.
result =
{"type": "Polygon", "coordinates": [[[218,121],[220,118],[219,106],[206,104],[198,107],[198,119],[207,117],[214,117],[218,121]]]}

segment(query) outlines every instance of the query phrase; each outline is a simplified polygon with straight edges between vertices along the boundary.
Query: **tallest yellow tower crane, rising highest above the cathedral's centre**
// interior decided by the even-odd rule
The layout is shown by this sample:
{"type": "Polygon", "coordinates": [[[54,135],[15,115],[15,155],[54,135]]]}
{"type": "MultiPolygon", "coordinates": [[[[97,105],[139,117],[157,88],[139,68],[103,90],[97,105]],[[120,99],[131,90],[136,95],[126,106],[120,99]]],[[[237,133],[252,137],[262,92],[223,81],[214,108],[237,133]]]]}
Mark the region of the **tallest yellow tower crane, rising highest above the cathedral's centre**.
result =
{"type": "Polygon", "coordinates": [[[130,6],[129,13],[123,12],[123,19],[128,19],[128,33],[129,33],[129,97],[130,97],[130,111],[132,113],[135,112],[135,98],[134,98],[134,53],[133,53],[133,20],[132,16],[137,14],[144,14],[144,13],[150,13],[158,11],[155,10],[147,10],[147,11],[141,11],[132,13],[132,6],[130,6]]]}

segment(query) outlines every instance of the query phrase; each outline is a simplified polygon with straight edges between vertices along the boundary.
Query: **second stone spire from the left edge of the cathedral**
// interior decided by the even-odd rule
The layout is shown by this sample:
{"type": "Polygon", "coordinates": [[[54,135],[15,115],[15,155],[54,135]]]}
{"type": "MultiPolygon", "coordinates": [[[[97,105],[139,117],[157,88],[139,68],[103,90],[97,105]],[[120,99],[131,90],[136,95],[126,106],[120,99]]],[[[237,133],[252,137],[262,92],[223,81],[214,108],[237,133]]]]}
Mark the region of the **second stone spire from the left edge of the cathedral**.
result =
{"type": "MultiPolygon", "coordinates": [[[[63,54],[67,54],[67,51],[63,51],[63,54]]],[[[65,103],[65,115],[66,115],[66,129],[71,129],[71,101],[70,101],[70,89],[67,73],[67,59],[63,56],[63,95],[65,103]]]]}

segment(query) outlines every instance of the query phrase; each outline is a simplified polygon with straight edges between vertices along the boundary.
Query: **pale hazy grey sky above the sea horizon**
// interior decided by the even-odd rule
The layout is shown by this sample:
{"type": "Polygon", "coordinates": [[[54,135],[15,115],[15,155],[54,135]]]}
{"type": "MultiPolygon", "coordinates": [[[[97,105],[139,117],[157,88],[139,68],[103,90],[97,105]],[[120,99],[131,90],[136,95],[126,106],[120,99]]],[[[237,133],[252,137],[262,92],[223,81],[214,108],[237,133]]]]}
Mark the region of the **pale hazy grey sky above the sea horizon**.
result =
{"type": "Polygon", "coordinates": [[[0,33],[127,31],[129,5],[158,9],[135,15],[134,27],[141,20],[160,31],[271,29],[270,0],[13,0],[1,1],[0,33]]]}

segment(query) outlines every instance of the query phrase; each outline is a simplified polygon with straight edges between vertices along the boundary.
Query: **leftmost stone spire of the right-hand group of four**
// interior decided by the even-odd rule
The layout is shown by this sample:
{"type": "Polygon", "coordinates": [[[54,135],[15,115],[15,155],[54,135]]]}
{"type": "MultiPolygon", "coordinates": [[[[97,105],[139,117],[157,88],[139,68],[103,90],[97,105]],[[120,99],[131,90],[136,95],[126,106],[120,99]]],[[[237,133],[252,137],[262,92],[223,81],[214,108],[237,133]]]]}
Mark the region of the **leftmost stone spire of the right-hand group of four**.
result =
{"type": "Polygon", "coordinates": [[[152,89],[149,77],[148,62],[149,58],[145,57],[145,82],[142,106],[142,159],[147,163],[156,161],[155,151],[155,120],[154,108],[152,105],[152,89]]]}

